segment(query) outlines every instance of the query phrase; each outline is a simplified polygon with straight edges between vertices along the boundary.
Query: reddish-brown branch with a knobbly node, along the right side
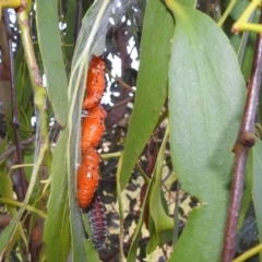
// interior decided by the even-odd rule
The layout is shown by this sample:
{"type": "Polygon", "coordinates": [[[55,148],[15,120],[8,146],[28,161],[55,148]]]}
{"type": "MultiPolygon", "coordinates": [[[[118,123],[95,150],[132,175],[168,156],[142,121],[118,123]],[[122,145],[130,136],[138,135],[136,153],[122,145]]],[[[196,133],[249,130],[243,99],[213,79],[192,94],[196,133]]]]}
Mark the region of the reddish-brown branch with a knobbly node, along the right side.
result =
{"type": "MultiPolygon", "coordinates": [[[[260,23],[262,23],[262,14],[260,16],[260,23]]],[[[262,36],[258,35],[251,72],[251,80],[248,86],[248,96],[245,106],[242,123],[238,134],[238,139],[233,150],[234,153],[236,153],[236,158],[234,166],[229,211],[227,216],[224,247],[222,253],[222,262],[231,262],[235,254],[237,224],[241,204],[247,157],[249,150],[255,143],[254,119],[259,100],[261,80],[262,80],[262,36]]]]}

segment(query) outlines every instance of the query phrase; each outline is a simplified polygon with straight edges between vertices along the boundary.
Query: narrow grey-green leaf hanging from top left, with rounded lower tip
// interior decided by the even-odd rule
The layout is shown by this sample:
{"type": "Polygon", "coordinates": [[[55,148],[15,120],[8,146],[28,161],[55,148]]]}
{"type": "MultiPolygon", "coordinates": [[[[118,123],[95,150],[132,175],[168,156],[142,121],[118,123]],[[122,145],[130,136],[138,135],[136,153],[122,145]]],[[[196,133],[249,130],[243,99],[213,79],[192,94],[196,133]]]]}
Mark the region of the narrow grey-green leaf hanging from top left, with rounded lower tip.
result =
{"type": "Polygon", "coordinates": [[[64,126],[68,117],[68,81],[59,27],[53,26],[58,25],[57,1],[36,1],[36,22],[48,98],[56,120],[64,126]]]}

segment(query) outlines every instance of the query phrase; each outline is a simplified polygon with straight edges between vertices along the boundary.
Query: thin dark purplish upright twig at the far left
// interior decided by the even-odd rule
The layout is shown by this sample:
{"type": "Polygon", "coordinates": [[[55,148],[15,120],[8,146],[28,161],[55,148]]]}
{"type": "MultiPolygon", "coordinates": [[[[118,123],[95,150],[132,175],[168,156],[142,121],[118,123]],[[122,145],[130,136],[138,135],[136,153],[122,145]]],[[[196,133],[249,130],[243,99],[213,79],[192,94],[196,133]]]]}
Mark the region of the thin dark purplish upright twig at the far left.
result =
{"type": "MultiPolygon", "coordinates": [[[[8,10],[3,10],[3,21],[7,29],[8,36],[8,47],[9,47],[9,60],[10,60],[10,73],[11,73],[11,105],[12,105],[12,121],[11,126],[13,128],[14,138],[15,138],[15,145],[16,145],[16,154],[17,154],[17,164],[23,164],[23,155],[22,150],[20,147],[20,123],[19,123],[19,114],[17,114],[17,106],[16,106],[16,97],[15,97],[15,79],[14,79],[14,59],[13,59],[13,49],[12,49],[12,38],[13,34],[10,28],[9,22],[9,13],[8,10]]],[[[27,182],[25,178],[25,171],[23,167],[19,168],[20,174],[20,181],[21,181],[21,189],[22,195],[17,194],[20,201],[23,201],[27,190],[27,182]]]]}

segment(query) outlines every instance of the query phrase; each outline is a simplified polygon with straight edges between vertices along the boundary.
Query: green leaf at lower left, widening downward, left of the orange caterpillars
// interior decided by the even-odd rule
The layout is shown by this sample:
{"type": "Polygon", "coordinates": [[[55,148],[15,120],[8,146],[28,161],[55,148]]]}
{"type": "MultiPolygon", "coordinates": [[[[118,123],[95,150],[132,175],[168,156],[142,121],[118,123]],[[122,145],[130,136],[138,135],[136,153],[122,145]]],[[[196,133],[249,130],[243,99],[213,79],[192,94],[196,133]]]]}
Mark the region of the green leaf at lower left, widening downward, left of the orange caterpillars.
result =
{"type": "Polygon", "coordinates": [[[70,249],[70,225],[68,206],[68,178],[66,148],[68,132],[63,130],[52,156],[51,192],[47,204],[44,241],[48,261],[67,261],[70,249]],[[59,239],[59,241],[58,241],[59,239]]]}

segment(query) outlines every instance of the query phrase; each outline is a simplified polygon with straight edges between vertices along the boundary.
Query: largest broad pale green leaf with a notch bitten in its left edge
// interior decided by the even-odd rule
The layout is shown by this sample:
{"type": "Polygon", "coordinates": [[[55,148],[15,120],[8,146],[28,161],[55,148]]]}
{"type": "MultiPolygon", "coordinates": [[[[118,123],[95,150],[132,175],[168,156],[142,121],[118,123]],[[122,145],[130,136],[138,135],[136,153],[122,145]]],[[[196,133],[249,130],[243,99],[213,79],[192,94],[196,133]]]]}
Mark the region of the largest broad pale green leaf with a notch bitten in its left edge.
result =
{"type": "Polygon", "coordinates": [[[200,201],[169,261],[217,261],[245,82],[221,28],[199,11],[167,2],[176,19],[169,69],[171,157],[182,189],[200,201]]]}

